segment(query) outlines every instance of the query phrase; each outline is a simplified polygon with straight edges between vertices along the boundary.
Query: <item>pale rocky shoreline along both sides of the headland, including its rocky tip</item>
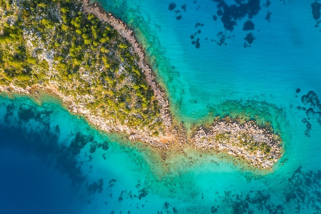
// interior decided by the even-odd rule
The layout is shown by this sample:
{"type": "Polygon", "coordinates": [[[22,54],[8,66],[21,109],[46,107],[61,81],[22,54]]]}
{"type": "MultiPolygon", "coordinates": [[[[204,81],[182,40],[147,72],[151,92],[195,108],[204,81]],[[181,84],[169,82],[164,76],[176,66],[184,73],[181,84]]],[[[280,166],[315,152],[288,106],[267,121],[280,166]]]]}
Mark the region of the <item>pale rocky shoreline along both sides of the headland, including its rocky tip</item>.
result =
{"type": "Polygon", "coordinates": [[[171,114],[166,92],[157,84],[152,69],[146,63],[144,49],[138,44],[133,31],[129,29],[122,20],[107,13],[97,3],[91,4],[89,0],[83,0],[81,11],[87,14],[92,13],[100,21],[111,25],[131,44],[131,54],[137,54],[139,56],[138,66],[145,74],[145,80],[154,91],[155,98],[160,106],[160,118],[162,119],[162,125],[165,127],[164,133],[154,136],[146,127],[144,129],[133,128],[121,124],[120,121],[115,119],[106,119],[93,115],[86,106],[81,104],[77,105],[73,96],[67,96],[59,91],[57,88],[58,84],[55,81],[51,81],[48,85],[35,84],[31,87],[27,86],[25,89],[10,84],[9,86],[0,86],[0,91],[36,95],[39,93],[39,90],[41,90],[52,94],[62,99],[63,104],[67,106],[70,112],[84,116],[89,123],[98,129],[107,133],[125,133],[132,142],[140,141],[159,148],[159,153],[163,160],[166,159],[167,151],[177,150],[184,152],[184,147],[186,148],[187,145],[201,153],[204,151],[227,152],[236,158],[242,157],[257,168],[271,168],[282,156],[281,141],[273,134],[273,130],[268,130],[266,127],[259,127],[254,121],[242,125],[239,121],[231,121],[229,118],[217,119],[207,128],[205,128],[204,125],[202,126],[202,124],[197,124],[195,129],[187,130],[184,124],[175,121],[174,116],[171,114]],[[187,132],[189,133],[187,134],[187,132]],[[245,141],[244,138],[247,137],[249,137],[249,139],[245,141]],[[252,152],[249,151],[248,146],[243,145],[244,143],[253,144],[253,146],[256,146],[255,150],[252,152]],[[264,152],[266,146],[271,148],[268,154],[264,152]]]}

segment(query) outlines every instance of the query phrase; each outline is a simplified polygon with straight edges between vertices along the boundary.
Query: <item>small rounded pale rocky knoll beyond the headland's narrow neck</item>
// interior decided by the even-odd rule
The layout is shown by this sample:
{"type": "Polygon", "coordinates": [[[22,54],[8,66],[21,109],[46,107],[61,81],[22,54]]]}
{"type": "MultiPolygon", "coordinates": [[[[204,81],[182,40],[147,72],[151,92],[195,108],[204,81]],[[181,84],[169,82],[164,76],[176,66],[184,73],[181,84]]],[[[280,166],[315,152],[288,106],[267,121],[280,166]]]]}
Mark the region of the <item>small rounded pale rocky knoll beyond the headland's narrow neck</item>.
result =
{"type": "Polygon", "coordinates": [[[191,140],[195,148],[227,151],[256,167],[270,168],[282,156],[277,135],[254,121],[241,125],[229,118],[217,120],[208,129],[200,127],[191,140]]]}

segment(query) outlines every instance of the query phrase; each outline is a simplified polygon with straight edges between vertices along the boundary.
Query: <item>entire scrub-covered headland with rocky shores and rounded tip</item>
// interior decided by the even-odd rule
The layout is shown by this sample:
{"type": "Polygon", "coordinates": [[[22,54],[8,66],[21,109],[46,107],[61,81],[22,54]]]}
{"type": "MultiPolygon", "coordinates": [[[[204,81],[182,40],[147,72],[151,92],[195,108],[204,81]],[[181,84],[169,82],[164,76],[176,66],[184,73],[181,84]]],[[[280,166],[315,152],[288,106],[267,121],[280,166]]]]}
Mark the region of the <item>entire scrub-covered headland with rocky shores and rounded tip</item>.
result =
{"type": "Polygon", "coordinates": [[[0,0],[0,90],[54,95],[72,113],[107,133],[166,151],[190,146],[227,152],[257,168],[282,157],[270,124],[214,118],[186,128],[144,47],[122,20],[88,0],[0,0]]]}

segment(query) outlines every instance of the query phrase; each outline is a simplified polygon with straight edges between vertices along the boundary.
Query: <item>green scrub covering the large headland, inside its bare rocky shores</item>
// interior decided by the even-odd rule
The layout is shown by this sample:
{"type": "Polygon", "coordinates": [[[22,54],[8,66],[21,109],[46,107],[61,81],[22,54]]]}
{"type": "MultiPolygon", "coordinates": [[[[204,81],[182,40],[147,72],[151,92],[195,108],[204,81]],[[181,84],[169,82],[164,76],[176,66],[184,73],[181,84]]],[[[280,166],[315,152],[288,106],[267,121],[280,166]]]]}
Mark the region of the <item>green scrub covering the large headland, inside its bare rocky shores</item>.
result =
{"type": "Polygon", "coordinates": [[[162,124],[138,56],[75,0],[0,0],[0,84],[51,86],[130,127],[162,124]]]}

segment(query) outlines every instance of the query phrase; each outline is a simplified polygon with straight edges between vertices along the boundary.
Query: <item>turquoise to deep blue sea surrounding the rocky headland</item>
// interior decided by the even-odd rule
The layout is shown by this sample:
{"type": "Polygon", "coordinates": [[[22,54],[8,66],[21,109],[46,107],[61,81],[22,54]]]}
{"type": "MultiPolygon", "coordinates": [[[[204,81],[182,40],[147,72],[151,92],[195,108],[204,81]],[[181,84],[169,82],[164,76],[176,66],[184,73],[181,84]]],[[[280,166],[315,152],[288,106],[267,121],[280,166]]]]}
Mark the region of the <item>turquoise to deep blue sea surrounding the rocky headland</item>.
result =
{"type": "Polygon", "coordinates": [[[49,96],[3,94],[1,213],[321,213],[319,2],[99,4],[134,30],[187,127],[224,115],[269,122],[284,155],[270,171],[192,150],[162,165],[49,96]]]}

